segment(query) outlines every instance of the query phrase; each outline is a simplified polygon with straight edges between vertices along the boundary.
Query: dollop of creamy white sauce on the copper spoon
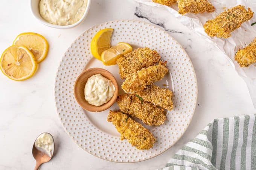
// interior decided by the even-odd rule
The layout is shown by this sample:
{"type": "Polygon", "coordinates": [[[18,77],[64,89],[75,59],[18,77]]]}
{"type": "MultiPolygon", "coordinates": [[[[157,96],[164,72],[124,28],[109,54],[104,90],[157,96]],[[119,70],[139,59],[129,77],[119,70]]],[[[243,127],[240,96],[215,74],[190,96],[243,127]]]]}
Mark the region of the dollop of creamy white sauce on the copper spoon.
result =
{"type": "Polygon", "coordinates": [[[52,136],[49,133],[40,134],[35,141],[35,147],[52,157],[54,148],[52,136]]]}

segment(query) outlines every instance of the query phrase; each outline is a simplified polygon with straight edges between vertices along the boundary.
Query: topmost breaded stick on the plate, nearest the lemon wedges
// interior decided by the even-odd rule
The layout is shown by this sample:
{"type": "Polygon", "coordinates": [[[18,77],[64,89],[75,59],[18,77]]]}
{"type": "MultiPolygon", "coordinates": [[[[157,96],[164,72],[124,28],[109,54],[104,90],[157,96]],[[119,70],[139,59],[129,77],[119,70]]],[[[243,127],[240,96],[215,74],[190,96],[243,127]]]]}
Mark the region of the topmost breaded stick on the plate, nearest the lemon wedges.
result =
{"type": "Polygon", "coordinates": [[[116,61],[116,63],[119,68],[120,77],[121,79],[124,79],[128,74],[153,66],[159,60],[160,54],[157,51],[145,47],[138,48],[123,55],[116,61]]]}

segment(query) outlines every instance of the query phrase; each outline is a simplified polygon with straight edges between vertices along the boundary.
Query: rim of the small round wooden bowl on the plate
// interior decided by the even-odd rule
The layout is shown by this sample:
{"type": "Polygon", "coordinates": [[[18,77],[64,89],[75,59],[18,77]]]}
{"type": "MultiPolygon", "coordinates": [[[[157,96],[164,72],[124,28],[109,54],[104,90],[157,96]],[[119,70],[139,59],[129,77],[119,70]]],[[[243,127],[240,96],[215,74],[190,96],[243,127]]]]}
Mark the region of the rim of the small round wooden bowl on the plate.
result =
{"type": "MultiPolygon", "coordinates": [[[[92,76],[92,75],[91,75],[92,76]]],[[[108,79],[108,78],[107,78],[108,79]]],[[[87,81],[85,82],[85,84],[87,83],[87,81]]],[[[118,91],[119,91],[119,88],[118,88],[118,83],[117,83],[117,80],[116,78],[114,77],[114,75],[112,73],[110,73],[108,70],[106,69],[102,69],[100,67],[91,67],[89,69],[85,69],[83,70],[79,75],[78,77],[76,78],[76,81],[74,83],[74,87],[73,87],[73,93],[74,93],[74,96],[75,96],[75,99],[77,101],[77,103],[85,110],[87,111],[90,111],[90,112],[102,112],[104,110],[107,110],[108,108],[110,108],[115,102],[116,102],[116,99],[117,99],[117,96],[118,96],[118,91]],[[84,74],[86,73],[89,73],[90,71],[94,70],[94,72],[98,72],[98,73],[95,73],[93,75],[96,75],[96,74],[101,74],[103,77],[107,78],[104,74],[102,74],[102,72],[107,72],[112,78],[113,80],[110,80],[113,85],[115,86],[115,91],[114,91],[114,94],[113,94],[113,97],[111,97],[111,99],[109,101],[107,101],[107,103],[104,103],[102,104],[101,106],[94,106],[92,104],[89,104],[88,101],[86,101],[84,99],[84,101],[80,101],[78,99],[78,91],[76,90],[76,85],[77,85],[77,82],[78,80],[81,78],[81,76],[83,76],[84,74]],[[84,102],[87,102],[89,104],[89,106],[91,107],[84,107],[82,105],[82,103],[84,102]],[[104,107],[105,106],[105,107],[104,107]]]]}

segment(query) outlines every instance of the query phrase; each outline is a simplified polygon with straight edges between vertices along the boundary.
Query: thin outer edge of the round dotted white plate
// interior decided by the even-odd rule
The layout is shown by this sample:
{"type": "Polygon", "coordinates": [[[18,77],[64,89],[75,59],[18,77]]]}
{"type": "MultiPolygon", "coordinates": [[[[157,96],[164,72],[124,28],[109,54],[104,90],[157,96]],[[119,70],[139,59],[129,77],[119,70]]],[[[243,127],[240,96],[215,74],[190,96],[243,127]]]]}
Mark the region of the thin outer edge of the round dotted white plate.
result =
{"type": "MultiPolygon", "coordinates": [[[[102,22],[102,23],[93,25],[92,27],[90,27],[90,28],[88,28],[87,30],[83,31],[78,37],[80,37],[80,36],[81,36],[82,34],[84,34],[86,31],[88,31],[88,30],[90,30],[91,28],[94,28],[94,27],[96,27],[96,26],[100,26],[100,25],[102,25],[102,24],[106,24],[106,23],[109,23],[109,22],[125,22],[125,21],[129,21],[129,22],[142,22],[142,23],[148,24],[148,25],[150,25],[150,26],[159,28],[159,29],[162,30],[163,32],[167,33],[173,40],[175,40],[175,42],[176,42],[178,45],[180,45],[181,50],[183,50],[184,54],[187,55],[187,59],[188,59],[189,62],[191,63],[192,72],[194,72],[194,74],[195,74],[196,94],[197,94],[197,95],[196,95],[196,97],[195,97],[195,105],[194,105],[194,108],[196,109],[197,100],[198,100],[198,82],[197,82],[197,75],[196,75],[196,72],[195,72],[195,68],[194,68],[194,65],[193,65],[193,63],[192,63],[192,61],[191,61],[191,58],[189,57],[189,55],[187,54],[187,52],[186,52],[186,50],[183,48],[183,46],[181,46],[181,44],[180,44],[174,37],[172,37],[171,34],[168,33],[168,31],[166,31],[165,29],[163,29],[163,28],[160,27],[159,25],[152,24],[151,22],[144,22],[144,21],[139,21],[139,20],[135,20],[135,19],[111,20],[111,21],[102,22]]],[[[78,39],[78,37],[76,37],[76,39],[78,39]]],[[[194,117],[195,109],[191,112],[191,113],[193,113],[193,115],[191,116],[191,119],[190,119],[190,121],[188,122],[187,127],[185,128],[185,130],[183,131],[183,133],[177,138],[177,140],[176,140],[174,143],[172,143],[171,146],[169,146],[168,148],[166,148],[163,152],[161,152],[161,153],[159,153],[159,154],[157,154],[157,155],[154,155],[154,156],[152,156],[151,158],[148,158],[148,159],[145,159],[145,160],[138,160],[138,161],[135,160],[135,161],[129,161],[129,162],[120,162],[120,161],[108,160],[108,159],[101,158],[101,157],[99,157],[99,156],[96,156],[96,155],[94,155],[94,154],[88,152],[87,150],[83,149],[78,143],[76,143],[75,139],[73,139],[73,137],[69,134],[69,132],[66,130],[66,127],[64,127],[64,124],[62,124],[61,117],[60,117],[60,114],[59,114],[60,112],[58,112],[57,101],[56,101],[57,96],[56,96],[56,92],[55,92],[55,91],[56,91],[56,86],[57,86],[57,85],[56,85],[56,84],[57,84],[57,82],[56,82],[56,80],[57,80],[57,74],[58,74],[58,72],[59,72],[58,70],[59,70],[59,67],[60,67],[60,63],[62,62],[62,58],[64,58],[66,52],[68,51],[68,49],[70,48],[70,46],[76,41],[76,39],[73,40],[72,43],[70,43],[70,45],[68,46],[67,50],[64,52],[64,54],[62,54],[61,61],[59,62],[59,66],[58,66],[58,68],[57,68],[57,72],[55,73],[55,83],[54,83],[54,97],[55,97],[54,100],[55,100],[56,113],[58,114],[58,118],[60,119],[60,122],[61,122],[62,127],[64,128],[64,130],[66,131],[66,133],[69,135],[69,137],[72,139],[72,141],[73,141],[76,145],[78,145],[79,148],[81,148],[82,150],[86,151],[88,154],[93,155],[94,157],[100,158],[100,159],[105,160],[105,161],[113,162],[113,163],[124,163],[124,164],[126,164],[126,163],[138,163],[138,162],[150,160],[150,159],[152,159],[152,158],[157,157],[158,155],[163,154],[163,153],[166,152],[168,149],[170,149],[173,145],[175,145],[175,143],[177,143],[178,140],[180,140],[180,138],[181,138],[181,137],[184,135],[184,133],[187,131],[187,128],[189,127],[189,125],[190,125],[190,123],[191,123],[191,121],[192,121],[192,118],[194,117]]],[[[73,90],[73,89],[72,89],[72,90],[73,90]]],[[[80,107],[81,107],[81,106],[80,106],[80,107]]]]}

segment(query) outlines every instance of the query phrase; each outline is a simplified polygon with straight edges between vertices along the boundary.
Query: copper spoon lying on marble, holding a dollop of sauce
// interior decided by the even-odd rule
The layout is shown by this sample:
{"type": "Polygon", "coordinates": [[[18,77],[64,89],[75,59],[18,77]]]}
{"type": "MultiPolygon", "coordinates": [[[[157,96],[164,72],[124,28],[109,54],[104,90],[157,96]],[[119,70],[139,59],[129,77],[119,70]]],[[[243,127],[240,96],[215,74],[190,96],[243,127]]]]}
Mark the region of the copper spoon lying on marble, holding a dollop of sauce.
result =
{"type": "MultiPolygon", "coordinates": [[[[44,133],[42,133],[42,134],[44,134],[44,133]]],[[[50,134],[50,133],[48,133],[48,134],[50,134]]],[[[40,137],[40,135],[38,137],[40,137]]],[[[51,134],[50,134],[50,136],[52,137],[51,134]]],[[[38,137],[37,137],[37,139],[38,139],[38,137]]],[[[35,165],[34,170],[38,170],[38,168],[41,166],[41,164],[46,163],[46,162],[48,162],[48,161],[50,161],[52,159],[53,152],[54,152],[54,140],[53,140],[53,137],[52,137],[52,141],[53,141],[53,149],[52,149],[51,156],[49,156],[46,152],[40,151],[35,146],[35,142],[34,142],[34,145],[33,145],[33,148],[32,148],[32,154],[33,154],[33,157],[35,158],[35,160],[37,161],[37,164],[35,165]]]]}

